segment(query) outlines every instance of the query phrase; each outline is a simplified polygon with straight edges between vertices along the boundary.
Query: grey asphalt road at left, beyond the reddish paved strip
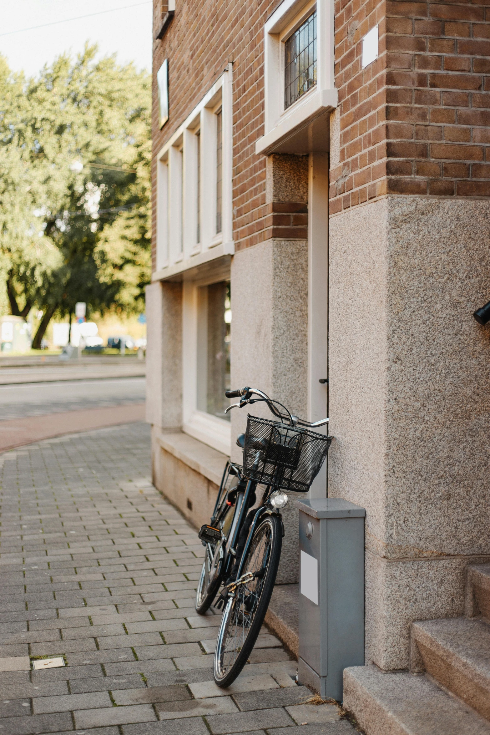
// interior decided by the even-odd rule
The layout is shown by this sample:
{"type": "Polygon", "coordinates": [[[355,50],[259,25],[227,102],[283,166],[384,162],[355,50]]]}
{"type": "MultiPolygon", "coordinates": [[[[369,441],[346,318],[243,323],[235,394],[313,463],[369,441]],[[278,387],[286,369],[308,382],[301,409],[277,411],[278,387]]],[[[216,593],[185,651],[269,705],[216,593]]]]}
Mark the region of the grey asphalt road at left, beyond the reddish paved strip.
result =
{"type": "Polygon", "coordinates": [[[0,385],[0,421],[145,401],[145,378],[0,385]]]}

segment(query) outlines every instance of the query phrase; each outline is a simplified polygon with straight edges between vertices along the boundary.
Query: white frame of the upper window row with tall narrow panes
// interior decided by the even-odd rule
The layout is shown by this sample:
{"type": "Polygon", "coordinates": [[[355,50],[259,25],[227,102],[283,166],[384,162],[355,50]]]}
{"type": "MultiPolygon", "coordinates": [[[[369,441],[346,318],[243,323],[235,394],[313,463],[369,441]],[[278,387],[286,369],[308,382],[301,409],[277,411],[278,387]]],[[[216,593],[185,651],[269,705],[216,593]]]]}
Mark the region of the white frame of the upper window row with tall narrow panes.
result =
{"type": "Polygon", "coordinates": [[[171,278],[223,255],[234,254],[232,81],[232,66],[228,64],[226,71],[156,157],[156,271],[152,281],[171,278]],[[223,136],[221,232],[218,234],[215,201],[217,110],[222,111],[223,136]],[[201,133],[200,243],[197,242],[197,131],[201,133]]]}

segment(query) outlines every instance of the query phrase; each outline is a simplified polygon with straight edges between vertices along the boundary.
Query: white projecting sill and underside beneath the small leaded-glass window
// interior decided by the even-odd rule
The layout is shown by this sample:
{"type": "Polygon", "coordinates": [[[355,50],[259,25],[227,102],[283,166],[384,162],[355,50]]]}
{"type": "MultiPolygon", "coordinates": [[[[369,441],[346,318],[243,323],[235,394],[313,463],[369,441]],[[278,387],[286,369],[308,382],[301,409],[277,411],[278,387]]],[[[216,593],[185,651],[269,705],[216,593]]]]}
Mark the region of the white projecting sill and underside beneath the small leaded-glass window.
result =
{"type": "Polygon", "coordinates": [[[336,89],[316,90],[296,102],[275,123],[273,128],[255,144],[257,155],[271,153],[305,154],[311,151],[328,152],[328,137],[309,135],[309,127],[317,119],[335,110],[338,102],[336,89]]]}

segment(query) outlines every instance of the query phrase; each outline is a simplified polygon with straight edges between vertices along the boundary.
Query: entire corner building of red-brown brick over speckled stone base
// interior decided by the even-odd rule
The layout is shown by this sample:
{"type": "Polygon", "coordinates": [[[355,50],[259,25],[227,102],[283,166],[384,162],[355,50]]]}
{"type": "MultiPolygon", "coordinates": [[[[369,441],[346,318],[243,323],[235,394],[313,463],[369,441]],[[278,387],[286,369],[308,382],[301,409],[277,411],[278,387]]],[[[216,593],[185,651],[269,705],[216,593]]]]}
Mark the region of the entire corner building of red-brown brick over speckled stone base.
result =
{"type": "MultiPolygon", "coordinates": [[[[226,385],[328,412],[328,491],[325,468],[310,492],[367,510],[365,663],[383,671],[408,669],[415,620],[464,614],[466,567],[490,561],[489,331],[472,319],[490,298],[489,123],[485,0],[154,0],[156,485],[208,520],[245,426],[226,385]]],[[[351,709],[375,732],[361,678],[351,709]]]]}

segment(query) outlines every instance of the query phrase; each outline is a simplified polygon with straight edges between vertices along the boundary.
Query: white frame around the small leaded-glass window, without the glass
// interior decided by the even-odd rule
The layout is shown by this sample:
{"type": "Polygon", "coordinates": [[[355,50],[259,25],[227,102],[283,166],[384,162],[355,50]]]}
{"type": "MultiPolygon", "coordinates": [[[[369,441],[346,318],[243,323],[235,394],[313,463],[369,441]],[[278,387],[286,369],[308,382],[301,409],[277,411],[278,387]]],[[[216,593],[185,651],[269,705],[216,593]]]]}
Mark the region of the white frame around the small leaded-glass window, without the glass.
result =
{"type": "Polygon", "coordinates": [[[334,110],[334,0],[284,0],[264,26],[264,135],[256,154],[273,152],[305,123],[334,110]],[[317,84],[284,110],[284,43],[317,10],[317,84]]]}

